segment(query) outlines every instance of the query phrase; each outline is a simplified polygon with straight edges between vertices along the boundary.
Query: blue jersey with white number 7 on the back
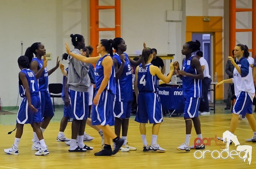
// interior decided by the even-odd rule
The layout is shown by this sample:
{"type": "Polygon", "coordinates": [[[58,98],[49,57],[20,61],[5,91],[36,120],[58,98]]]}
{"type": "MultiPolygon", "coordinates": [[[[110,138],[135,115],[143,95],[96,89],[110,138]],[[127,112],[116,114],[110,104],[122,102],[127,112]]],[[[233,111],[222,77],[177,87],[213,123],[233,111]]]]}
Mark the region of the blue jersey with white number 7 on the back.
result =
{"type": "MultiPolygon", "coordinates": [[[[31,96],[38,94],[38,84],[34,72],[30,69],[22,69],[20,72],[26,75],[31,96]]],[[[25,88],[19,76],[19,92],[21,97],[26,97],[25,88]]]]}

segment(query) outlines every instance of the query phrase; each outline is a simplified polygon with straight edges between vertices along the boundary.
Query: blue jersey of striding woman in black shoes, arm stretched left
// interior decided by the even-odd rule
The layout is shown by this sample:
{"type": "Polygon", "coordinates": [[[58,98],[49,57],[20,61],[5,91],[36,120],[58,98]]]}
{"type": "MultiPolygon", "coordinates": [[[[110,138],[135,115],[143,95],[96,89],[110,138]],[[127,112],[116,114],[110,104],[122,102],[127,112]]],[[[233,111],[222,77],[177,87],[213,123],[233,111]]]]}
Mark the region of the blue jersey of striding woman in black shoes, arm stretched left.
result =
{"type": "MultiPolygon", "coordinates": [[[[101,82],[104,78],[104,69],[102,66],[102,61],[106,56],[110,56],[110,54],[106,54],[105,56],[101,57],[98,62],[96,63],[94,75],[95,75],[95,90],[97,91],[100,88],[101,82]]],[[[112,61],[113,62],[113,61],[112,61]]],[[[115,71],[114,71],[114,63],[112,65],[110,79],[108,80],[107,86],[105,89],[110,90],[111,93],[116,94],[116,82],[115,82],[115,71]]]]}

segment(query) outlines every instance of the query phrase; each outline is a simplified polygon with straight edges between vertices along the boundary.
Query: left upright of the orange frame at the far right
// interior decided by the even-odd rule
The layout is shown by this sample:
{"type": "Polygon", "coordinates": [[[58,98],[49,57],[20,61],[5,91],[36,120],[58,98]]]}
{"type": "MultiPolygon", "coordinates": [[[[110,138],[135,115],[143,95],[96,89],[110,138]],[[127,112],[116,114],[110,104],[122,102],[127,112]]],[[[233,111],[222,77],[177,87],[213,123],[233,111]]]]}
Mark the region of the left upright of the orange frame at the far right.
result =
{"type": "Polygon", "coordinates": [[[232,56],[232,50],[236,41],[236,0],[229,0],[229,56],[232,56]]]}

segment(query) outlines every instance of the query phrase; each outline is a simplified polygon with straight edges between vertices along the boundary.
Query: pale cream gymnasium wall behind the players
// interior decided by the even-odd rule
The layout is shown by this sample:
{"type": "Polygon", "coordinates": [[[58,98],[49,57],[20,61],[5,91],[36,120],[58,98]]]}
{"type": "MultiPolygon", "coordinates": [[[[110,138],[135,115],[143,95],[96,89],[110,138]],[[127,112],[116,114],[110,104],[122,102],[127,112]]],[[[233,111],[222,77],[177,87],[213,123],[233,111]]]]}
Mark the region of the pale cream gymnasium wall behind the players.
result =
{"type": "MultiPolygon", "coordinates": [[[[114,0],[100,0],[99,3],[113,5],[114,0]]],[[[158,53],[174,53],[174,60],[181,62],[186,16],[225,16],[224,8],[226,10],[228,7],[224,6],[224,3],[226,4],[224,0],[121,0],[121,34],[128,46],[127,53],[141,53],[145,41],[148,47],[158,49],[158,53]],[[183,21],[166,22],[166,10],[182,10],[183,21]]],[[[251,4],[251,0],[238,2],[238,5],[243,7],[247,4],[251,4]]],[[[65,52],[64,42],[67,41],[71,45],[70,34],[84,35],[86,44],[89,44],[89,11],[89,0],[1,0],[1,106],[16,105],[20,41],[23,41],[23,54],[32,43],[42,42],[47,52],[52,53],[52,60],[48,61],[47,66],[51,69],[56,64],[56,56],[61,56],[65,52]]],[[[100,11],[99,16],[101,27],[114,26],[113,10],[100,11]]],[[[247,15],[239,17],[245,18],[247,15]]],[[[226,22],[228,19],[224,18],[224,25],[226,22]]],[[[241,22],[241,25],[249,23],[245,19],[241,22]]],[[[225,32],[228,33],[224,30],[225,32]]],[[[102,38],[113,39],[114,33],[112,31],[101,33],[100,39],[102,38]]],[[[250,41],[249,39],[250,35],[239,36],[238,41],[250,41]]],[[[226,41],[224,38],[224,53],[226,41]]],[[[166,68],[169,66],[166,65],[166,68]]],[[[49,76],[49,83],[56,82],[62,83],[62,74],[59,70],[49,76]]],[[[61,99],[56,102],[62,104],[61,99]]]]}

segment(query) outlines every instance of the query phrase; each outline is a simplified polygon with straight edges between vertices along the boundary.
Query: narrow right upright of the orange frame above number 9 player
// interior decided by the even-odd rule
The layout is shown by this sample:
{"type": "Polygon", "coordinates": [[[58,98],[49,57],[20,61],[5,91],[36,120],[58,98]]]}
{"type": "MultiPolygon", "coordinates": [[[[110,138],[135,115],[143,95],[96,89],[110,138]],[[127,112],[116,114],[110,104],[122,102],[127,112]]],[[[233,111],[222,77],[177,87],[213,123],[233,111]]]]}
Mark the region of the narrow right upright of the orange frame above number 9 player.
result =
{"type": "Polygon", "coordinates": [[[115,0],[115,37],[121,37],[121,2],[115,0]]]}

